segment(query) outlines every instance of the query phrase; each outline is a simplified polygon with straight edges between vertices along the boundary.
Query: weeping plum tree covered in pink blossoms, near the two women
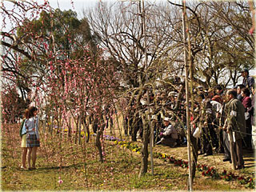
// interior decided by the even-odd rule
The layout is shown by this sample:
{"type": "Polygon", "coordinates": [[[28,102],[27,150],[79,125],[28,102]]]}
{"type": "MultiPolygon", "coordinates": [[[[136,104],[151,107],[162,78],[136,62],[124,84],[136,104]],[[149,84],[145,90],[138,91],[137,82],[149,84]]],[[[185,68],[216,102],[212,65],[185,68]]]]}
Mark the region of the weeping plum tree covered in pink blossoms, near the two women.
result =
{"type": "MultiPolygon", "coordinates": [[[[102,129],[106,126],[102,118],[104,112],[102,106],[107,106],[111,101],[110,98],[114,97],[118,81],[111,62],[103,58],[98,58],[98,61],[94,62],[90,57],[90,50],[83,47],[83,51],[82,59],[66,58],[56,60],[55,63],[49,62],[50,72],[46,81],[46,94],[54,107],[61,111],[61,117],[66,123],[68,123],[68,111],[74,118],[94,113],[94,118],[99,120],[98,138],[100,138],[102,129]],[[62,69],[59,73],[58,66],[62,69]],[[59,86],[62,82],[64,86],[59,86]]],[[[76,125],[78,126],[78,122],[76,125]]],[[[65,126],[62,130],[64,129],[65,126]]],[[[101,147],[98,149],[102,150],[101,147]]]]}

